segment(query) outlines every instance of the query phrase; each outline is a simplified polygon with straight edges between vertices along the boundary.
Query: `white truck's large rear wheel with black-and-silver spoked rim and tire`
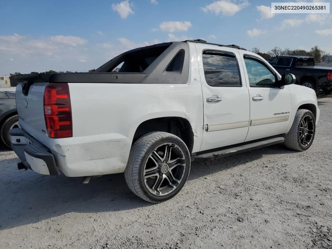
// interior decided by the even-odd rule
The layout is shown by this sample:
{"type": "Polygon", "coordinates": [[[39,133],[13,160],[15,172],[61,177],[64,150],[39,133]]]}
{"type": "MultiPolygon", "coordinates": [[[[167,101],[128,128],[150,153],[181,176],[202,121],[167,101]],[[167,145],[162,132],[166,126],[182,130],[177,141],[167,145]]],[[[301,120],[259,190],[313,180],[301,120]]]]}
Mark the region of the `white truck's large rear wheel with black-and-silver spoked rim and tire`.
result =
{"type": "Polygon", "coordinates": [[[150,132],[131,146],[124,177],[135,195],[147,202],[160,203],[181,191],[188,179],[190,166],[189,150],[178,136],[168,132],[150,132]]]}

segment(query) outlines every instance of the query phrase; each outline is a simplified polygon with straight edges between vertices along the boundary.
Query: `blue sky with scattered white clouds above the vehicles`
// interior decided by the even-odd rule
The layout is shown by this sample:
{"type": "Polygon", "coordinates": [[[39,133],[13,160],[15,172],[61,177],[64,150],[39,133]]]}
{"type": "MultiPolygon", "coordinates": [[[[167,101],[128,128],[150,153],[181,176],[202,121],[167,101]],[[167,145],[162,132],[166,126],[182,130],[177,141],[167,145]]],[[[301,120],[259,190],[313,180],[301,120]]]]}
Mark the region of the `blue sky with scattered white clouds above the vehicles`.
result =
{"type": "Polygon", "coordinates": [[[3,0],[0,75],[89,70],[135,47],[199,38],[264,52],[318,45],[332,54],[332,14],[270,7],[266,0],[3,0]]]}

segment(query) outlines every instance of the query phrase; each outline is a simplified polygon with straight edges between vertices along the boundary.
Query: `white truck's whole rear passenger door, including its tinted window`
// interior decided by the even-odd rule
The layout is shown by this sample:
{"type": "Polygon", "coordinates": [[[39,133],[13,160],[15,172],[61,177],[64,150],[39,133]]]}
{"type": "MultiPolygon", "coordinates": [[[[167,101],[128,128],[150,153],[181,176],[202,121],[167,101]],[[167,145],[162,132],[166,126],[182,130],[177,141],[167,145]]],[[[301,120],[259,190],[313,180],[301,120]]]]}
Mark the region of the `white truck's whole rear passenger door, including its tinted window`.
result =
{"type": "Polygon", "coordinates": [[[244,142],[249,93],[237,49],[196,43],[203,91],[201,151],[244,142]]]}

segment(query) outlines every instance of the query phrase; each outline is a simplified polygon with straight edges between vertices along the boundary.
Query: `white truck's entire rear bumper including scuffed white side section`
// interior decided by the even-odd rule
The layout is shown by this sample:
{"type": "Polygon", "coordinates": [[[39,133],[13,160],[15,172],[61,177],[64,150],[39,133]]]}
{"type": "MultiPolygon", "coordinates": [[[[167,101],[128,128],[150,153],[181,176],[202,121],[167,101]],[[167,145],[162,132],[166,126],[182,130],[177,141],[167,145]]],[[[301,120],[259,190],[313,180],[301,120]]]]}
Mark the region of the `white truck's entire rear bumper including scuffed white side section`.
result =
{"type": "Polygon", "coordinates": [[[62,172],[68,177],[122,173],[131,147],[131,140],[118,133],[49,138],[41,143],[28,130],[15,128],[10,131],[10,139],[27,168],[44,175],[62,172]]]}

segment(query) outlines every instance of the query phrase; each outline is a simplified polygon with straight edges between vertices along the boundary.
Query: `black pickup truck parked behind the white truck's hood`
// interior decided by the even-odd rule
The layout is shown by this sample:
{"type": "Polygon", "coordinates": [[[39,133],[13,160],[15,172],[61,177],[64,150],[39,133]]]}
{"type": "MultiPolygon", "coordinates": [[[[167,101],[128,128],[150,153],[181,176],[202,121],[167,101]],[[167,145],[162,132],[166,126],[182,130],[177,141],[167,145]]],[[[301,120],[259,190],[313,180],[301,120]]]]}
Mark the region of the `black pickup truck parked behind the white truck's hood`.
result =
{"type": "Polygon", "coordinates": [[[324,94],[332,92],[332,67],[315,66],[313,57],[283,55],[269,59],[269,63],[280,74],[294,74],[295,84],[312,88],[316,92],[324,94]]]}

